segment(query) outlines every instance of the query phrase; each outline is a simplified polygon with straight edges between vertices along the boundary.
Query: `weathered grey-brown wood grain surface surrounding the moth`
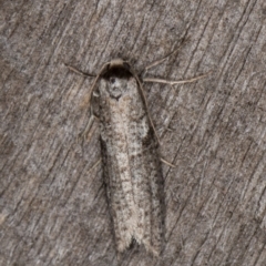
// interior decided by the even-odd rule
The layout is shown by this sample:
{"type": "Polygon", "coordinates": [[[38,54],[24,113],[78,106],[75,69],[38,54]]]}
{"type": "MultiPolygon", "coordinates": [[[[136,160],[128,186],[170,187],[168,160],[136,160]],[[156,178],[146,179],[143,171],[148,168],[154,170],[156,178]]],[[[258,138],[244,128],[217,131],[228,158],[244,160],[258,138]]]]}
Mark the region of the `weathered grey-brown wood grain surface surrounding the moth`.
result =
{"type": "Polygon", "coordinates": [[[0,265],[266,265],[266,3],[0,1],[0,265]],[[116,258],[88,92],[116,57],[137,71],[161,140],[165,246],[116,258]]]}

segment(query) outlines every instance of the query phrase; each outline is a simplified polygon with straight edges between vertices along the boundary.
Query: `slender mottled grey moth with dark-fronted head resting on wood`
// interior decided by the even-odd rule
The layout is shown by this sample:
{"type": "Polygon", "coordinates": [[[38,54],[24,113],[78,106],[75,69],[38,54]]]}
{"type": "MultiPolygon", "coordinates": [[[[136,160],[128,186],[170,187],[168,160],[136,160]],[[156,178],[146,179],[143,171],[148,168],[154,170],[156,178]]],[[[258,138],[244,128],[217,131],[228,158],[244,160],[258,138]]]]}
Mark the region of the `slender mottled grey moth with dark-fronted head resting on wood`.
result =
{"type": "MultiPolygon", "coordinates": [[[[172,85],[203,76],[187,81],[143,81],[172,85]]],[[[123,253],[135,242],[158,256],[164,231],[164,180],[158,140],[142,82],[129,62],[115,59],[102,66],[90,98],[93,92],[98,102],[103,175],[117,252],[123,253]]]]}

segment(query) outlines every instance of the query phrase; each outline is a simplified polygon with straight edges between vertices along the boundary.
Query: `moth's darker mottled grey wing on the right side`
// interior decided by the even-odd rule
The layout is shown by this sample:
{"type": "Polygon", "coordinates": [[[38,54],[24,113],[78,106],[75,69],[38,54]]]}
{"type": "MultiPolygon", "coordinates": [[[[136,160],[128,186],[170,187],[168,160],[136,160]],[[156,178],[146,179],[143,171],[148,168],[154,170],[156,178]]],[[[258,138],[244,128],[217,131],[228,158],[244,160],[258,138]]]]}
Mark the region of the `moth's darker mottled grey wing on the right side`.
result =
{"type": "Polygon", "coordinates": [[[132,183],[135,204],[137,206],[137,231],[135,238],[147,250],[158,255],[163,234],[163,176],[157,152],[157,142],[149,120],[149,130],[141,137],[141,154],[131,156],[132,183]]]}

